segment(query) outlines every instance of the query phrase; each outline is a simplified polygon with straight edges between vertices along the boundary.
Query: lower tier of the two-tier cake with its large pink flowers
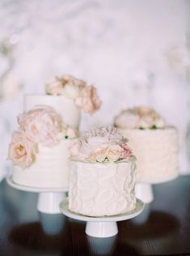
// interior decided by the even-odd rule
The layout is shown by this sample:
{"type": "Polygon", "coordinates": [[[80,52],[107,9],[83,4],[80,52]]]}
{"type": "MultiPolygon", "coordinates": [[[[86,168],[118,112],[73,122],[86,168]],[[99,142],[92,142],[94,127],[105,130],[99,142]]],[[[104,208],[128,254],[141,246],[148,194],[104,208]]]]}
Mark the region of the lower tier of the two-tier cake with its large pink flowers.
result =
{"type": "Polygon", "coordinates": [[[68,188],[69,147],[76,130],[48,106],[24,112],[18,122],[9,148],[13,181],[22,186],[68,188]]]}

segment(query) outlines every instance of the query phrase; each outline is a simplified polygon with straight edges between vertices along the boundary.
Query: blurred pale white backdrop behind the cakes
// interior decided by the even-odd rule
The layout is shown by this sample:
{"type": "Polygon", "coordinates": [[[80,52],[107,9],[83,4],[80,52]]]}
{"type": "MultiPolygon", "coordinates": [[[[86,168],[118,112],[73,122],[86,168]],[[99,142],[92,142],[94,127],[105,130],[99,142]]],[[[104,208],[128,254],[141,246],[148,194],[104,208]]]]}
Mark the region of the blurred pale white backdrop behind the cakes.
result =
{"type": "Polygon", "coordinates": [[[95,84],[103,101],[82,130],[149,105],[178,128],[190,172],[190,1],[1,0],[0,23],[0,173],[23,94],[63,74],[95,84]]]}

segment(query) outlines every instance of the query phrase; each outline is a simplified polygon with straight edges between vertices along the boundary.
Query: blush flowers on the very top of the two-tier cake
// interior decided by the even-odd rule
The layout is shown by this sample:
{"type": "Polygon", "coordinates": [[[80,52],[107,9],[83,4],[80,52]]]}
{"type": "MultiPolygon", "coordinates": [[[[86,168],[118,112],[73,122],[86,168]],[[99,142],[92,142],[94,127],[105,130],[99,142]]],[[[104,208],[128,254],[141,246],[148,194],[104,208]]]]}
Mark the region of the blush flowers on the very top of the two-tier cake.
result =
{"type": "Polygon", "coordinates": [[[57,77],[52,83],[47,83],[45,92],[49,95],[64,95],[83,109],[86,113],[95,113],[100,108],[101,101],[94,86],[87,86],[87,83],[75,79],[70,75],[57,77]]]}

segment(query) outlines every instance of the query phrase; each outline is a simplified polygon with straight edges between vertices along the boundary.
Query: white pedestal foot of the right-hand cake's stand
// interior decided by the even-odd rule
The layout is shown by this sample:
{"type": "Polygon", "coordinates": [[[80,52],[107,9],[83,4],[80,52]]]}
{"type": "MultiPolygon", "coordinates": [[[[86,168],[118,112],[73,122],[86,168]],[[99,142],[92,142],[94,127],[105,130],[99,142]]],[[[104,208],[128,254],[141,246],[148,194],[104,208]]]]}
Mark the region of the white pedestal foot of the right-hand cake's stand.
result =
{"type": "Polygon", "coordinates": [[[150,183],[136,183],[135,194],[143,203],[151,203],[154,200],[153,189],[150,183]]]}

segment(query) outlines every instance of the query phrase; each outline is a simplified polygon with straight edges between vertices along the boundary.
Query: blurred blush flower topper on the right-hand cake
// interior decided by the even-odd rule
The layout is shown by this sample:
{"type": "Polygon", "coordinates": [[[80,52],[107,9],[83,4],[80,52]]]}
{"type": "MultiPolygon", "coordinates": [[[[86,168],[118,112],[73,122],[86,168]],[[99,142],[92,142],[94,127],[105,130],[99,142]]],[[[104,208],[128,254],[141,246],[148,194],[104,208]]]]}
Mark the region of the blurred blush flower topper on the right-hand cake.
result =
{"type": "Polygon", "coordinates": [[[126,109],[115,118],[114,125],[128,129],[160,129],[166,127],[166,122],[154,109],[134,107],[126,109]]]}

